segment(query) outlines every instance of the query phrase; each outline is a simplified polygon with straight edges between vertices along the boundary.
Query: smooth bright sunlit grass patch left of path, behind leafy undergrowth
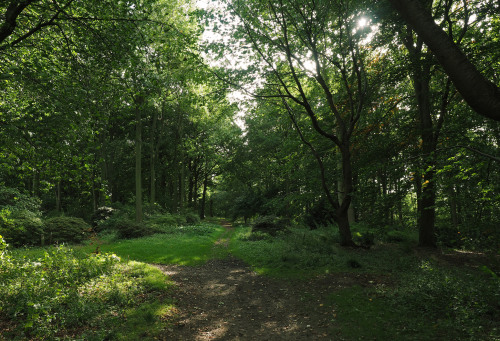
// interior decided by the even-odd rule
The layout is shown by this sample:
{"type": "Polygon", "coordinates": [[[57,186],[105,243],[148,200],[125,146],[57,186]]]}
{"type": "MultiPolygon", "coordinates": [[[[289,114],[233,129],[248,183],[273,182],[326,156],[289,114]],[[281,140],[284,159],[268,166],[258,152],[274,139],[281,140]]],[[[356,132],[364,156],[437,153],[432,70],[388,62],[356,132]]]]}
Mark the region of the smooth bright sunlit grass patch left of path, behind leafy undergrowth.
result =
{"type": "Polygon", "coordinates": [[[129,240],[102,240],[82,247],[93,252],[112,252],[124,259],[155,264],[199,265],[212,258],[214,242],[224,233],[220,225],[169,227],[168,233],[129,240]]]}

